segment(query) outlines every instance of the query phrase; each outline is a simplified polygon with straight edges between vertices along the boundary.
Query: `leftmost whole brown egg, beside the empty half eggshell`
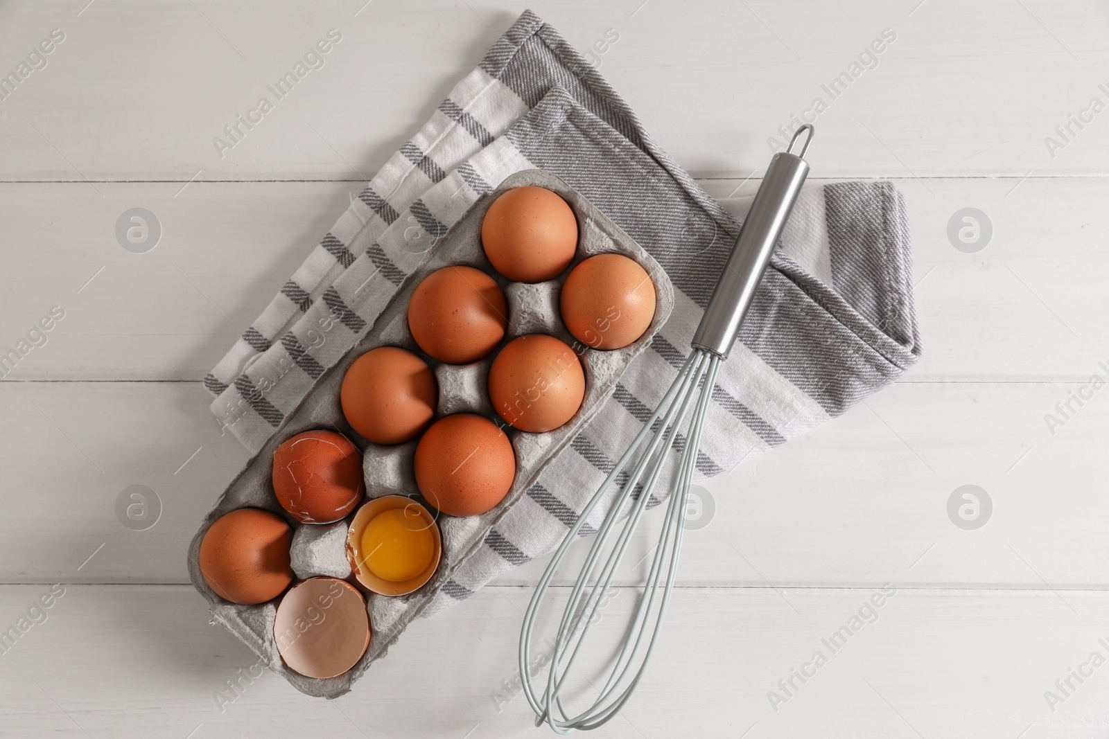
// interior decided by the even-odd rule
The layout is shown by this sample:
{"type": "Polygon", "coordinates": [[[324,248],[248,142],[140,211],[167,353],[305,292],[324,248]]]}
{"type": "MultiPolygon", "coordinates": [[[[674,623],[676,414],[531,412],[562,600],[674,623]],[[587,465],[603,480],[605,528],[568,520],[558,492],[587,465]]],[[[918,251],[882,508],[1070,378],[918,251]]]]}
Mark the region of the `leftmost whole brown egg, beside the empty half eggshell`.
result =
{"type": "Polygon", "coordinates": [[[232,603],[273,601],[293,582],[288,546],[293,528],[276,513],[238,509],[218,519],[201,542],[204,582],[232,603]]]}

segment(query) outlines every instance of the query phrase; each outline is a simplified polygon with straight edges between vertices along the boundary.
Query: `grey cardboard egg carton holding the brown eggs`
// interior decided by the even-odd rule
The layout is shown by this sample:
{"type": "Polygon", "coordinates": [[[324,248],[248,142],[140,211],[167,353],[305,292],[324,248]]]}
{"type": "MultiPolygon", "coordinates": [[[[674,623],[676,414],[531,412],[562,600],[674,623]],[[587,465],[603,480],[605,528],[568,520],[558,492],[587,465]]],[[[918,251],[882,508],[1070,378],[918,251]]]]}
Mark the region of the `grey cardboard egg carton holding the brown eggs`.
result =
{"type": "MultiPolygon", "coordinates": [[[[554,459],[596,415],[612,394],[615,383],[628,365],[645,349],[659,328],[667,321],[674,304],[673,286],[662,267],[619,226],[549,172],[528,170],[506,178],[495,193],[477,201],[444,238],[427,254],[421,267],[403,284],[367,335],[324,372],[297,409],[286,417],[262,450],[245,465],[207,514],[190,546],[189,574],[193,585],[212,604],[215,622],[223,624],[246,644],[272,670],[281,674],[295,688],[311,696],[337,698],[350,690],[375,660],[386,655],[407,625],[427,607],[458,567],[481,546],[494,526],[539,478],[554,459]],[[570,267],[556,279],[546,283],[512,283],[501,277],[489,264],[481,248],[481,220],[492,202],[507,189],[536,185],[558,193],[573,209],[578,219],[578,248],[570,267]],[[570,269],[582,259],[597,254],[622,254],[639,263],[651,276],[655,289],[654,318],[635,342],[622,349],[600,351],[577,341],[562,325],[559,290],[570,269]],[[433,271],[452,265],[466,265],[488,273],[505,291],[509,316],[506,337],[500,346],[527,333],[548,333],[569,345],[586,373],[586,393],[581,408],[564,425],[545,433],[528,433],[505,425],[494,412],[486,383],[489,367],[500,349],[472,365],[446,365],[419,349],[408,330],[408,302],[416,287],[433,271]],[[367,500],[399,494],[427,505],[419,495],[414,472],[418,439],[395,447],[370,443],[359,437],[343,417],[339,388],[347,368],[362,355],[383,346],[395,346],[417,353],[433,368],[439,387],[436,418],[450,413],[470,412],[485,415],[501,425],[516,451],[516,479],[505,499],[491,511],[476,516],[455,517],[435,514],[442,540],[442,555],[434,577],[421,588],[405,596],[388,597],[367,594],[373,636],[369,648],[347,673],[334,678],[311,678],[285,666],[273,636],[277,604],[281,598],[262,605],[230,603],[217,596],[204,581],[199,565],[201,541],[220,516],[240,507],[254,506],[282,515],[294,528],[291,547],[292,565],[297,578],[327,575],[350,579],[347,558],[347,530],[354,515],[327,525],[302,524],[288,516],[277,503],[271,481],[274,450],[289,437],[313,429],[330,429],[345,434],[364,454],[364,476],[367,500]]],[[[362,506],[363,503],[359,503],[362,506]]],[[[356,509],[357,510],[357,509],[356,509]]],[[[364,593],[364,588],[359,588],[364,593]]]]}

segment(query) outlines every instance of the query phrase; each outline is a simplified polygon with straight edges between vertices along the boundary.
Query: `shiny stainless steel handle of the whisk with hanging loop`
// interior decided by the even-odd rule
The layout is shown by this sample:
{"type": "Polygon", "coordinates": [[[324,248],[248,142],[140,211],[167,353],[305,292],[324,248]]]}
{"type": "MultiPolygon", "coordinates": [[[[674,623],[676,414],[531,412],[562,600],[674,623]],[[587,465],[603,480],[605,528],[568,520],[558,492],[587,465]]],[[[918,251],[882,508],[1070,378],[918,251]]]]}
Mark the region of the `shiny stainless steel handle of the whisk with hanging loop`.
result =
{"type": "Polygon", "coordinates": [[[766,265],[770,264],[774,245],[782,235],[801,186],[808,175],[808,163],[802,157],[812,138],[813,126],[806,123],[797,129],[790,147],[771,158],[751,211],[747,212],[735,246],[732,247],[732,254],[716,283],[712,299],[709,300],[709,307],[693,333],[694,349],[728,358],[735,337],[739,336],[743,316],[751,305],[766,265]],[[808,138],[798,156],[790,150],[806,129],[808,138]]]}

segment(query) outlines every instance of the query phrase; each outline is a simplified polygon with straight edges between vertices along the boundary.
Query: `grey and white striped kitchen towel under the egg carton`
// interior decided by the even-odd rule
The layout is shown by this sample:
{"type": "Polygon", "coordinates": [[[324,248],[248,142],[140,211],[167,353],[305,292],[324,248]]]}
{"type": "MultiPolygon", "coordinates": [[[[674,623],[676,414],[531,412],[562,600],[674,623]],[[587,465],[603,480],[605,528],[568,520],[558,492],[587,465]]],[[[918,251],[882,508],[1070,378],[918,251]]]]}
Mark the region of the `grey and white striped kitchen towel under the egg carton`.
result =
{"type": "MultiPolygon", "coordinates": [[[[675,305],[612,399],[425,614],[563,538],[690,351],[749,202],[725,209],[704,193],[597,70],[525,11],[352,201],[204,380],[221,424],[256,452],[324,371],[373,329],[447,229],[505,177],[533,167],[562,177],[650,252],[670,275],[675,305]]],[[[805,189],[718,377],[699,474],[724,472],[843,413],[915,362],[920,345],[910,278],[896,188],[840,183],[805,189]]]]}

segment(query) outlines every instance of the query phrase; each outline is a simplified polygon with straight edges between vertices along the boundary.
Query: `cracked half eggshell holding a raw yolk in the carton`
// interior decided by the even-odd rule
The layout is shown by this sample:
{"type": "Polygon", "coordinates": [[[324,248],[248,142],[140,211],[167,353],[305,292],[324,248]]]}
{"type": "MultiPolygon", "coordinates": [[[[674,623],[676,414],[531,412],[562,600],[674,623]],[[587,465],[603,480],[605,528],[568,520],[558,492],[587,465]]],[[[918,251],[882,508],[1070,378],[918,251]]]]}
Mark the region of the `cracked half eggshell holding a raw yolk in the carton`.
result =
{"type": "Polygon", "coordinates": [[[441,546],[428,510],[403,495],[381,495],[363,505],[347,533],[350,571],[380,595],[419,589],[439,566],[441,546]]]}

